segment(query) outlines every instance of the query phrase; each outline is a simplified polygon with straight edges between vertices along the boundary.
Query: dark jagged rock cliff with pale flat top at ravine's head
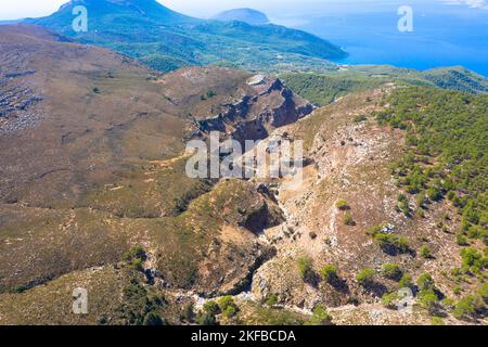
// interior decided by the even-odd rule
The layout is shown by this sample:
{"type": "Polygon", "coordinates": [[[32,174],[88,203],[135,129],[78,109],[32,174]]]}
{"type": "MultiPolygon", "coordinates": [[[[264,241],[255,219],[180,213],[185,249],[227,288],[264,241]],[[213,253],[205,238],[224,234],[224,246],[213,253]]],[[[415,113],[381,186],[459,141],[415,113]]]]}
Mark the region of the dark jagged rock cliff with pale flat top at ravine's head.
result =
{"type": "Polygon", "coordinates": [[[170,90],[171,100],[191,105],[194,137],[220,131],[242,142],[261,140],[313,111],[309,102],[272,76],[253,76],[222,67],[190,67],[164,76],[159,83],[170,90]],[[177,85],[180,92],[172,89],[177,85]],[[193,100],[181,98],[183,88],[193,100]]]}

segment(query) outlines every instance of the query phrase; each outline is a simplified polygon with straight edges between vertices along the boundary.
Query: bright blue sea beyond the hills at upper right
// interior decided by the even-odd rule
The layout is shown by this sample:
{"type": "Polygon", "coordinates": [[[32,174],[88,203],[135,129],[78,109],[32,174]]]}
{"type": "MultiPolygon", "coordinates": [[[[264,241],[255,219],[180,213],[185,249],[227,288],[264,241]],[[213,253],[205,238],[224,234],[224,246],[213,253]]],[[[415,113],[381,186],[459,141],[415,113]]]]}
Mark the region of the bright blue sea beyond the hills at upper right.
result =
{"type": "Polygon", "coordinates": [[[290,15],[282,23],[343,47],[350,55],[341,63],[421,70],[462,65],[488,76],[488,1],[486,9],[440,0],[414,2],[412,33],[398,30],[400,2],[361,3],[338,8],[324,3],[313,13],[290,15]]]}

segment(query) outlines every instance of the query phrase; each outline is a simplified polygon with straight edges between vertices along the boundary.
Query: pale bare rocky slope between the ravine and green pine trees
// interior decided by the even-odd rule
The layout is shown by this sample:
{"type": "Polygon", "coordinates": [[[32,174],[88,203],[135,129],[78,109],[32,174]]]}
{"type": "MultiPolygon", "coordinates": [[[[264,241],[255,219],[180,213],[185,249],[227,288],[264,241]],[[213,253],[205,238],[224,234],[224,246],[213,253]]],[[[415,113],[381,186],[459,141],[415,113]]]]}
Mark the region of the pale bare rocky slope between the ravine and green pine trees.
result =
{"type": "Polygon", "coordinates": [[[398,290],[396,281],[377,275],[373,285],[358,284],[356,275],[362,269],[380,273],[384,264],[397,264],[414,279],[427,272],[438,290],[454,295],[444,273],[459,266],[459,245],[452,233],[438,227],[438,221],[446,214],[455,216],[444,223],[449,230],[458,230],[460,217],[448,202],[433,204],[422,218],[397,210],[399,190],[388,167],[404,153],[403,134],[380,126],[372,117],[384,107],[380,101],[388,92],[382,89],[348,95],[271,136],[286,132],[303,139],[305,155],[313,165],[305,167],[298,184],[283,181],[277,188],[285,221],[265,231],[277,247],[277,256],[253,277],[251,291],[257,300],[277,295],[284,307],[308,312],[320,304],[330,309],[338,324],[390,323],[397,319],[404,324],[423,322],[419,317],[384,314],[378,301],[385,293],[398,290]],[[358,116],[367,120],[358,123],[358,116]],[[347,202],[347,209],[337,207],[341,200],[347,202]],[[354,223],[345,222],[346,214],[354,223]],[[404,237],[411,249],[420,249],[428,240],[428,246],[439,256],[422,259],[411,252],[393,254],[368,233],[374,226],[404,237]],[[300,258],[309,259],[311,275],[300,275],[300,258]],[[326,265],[337,267],[336,279],[321,277],[326,265]],[[371,318],[364,322],[359,319],[361,314],[371,318]]]}

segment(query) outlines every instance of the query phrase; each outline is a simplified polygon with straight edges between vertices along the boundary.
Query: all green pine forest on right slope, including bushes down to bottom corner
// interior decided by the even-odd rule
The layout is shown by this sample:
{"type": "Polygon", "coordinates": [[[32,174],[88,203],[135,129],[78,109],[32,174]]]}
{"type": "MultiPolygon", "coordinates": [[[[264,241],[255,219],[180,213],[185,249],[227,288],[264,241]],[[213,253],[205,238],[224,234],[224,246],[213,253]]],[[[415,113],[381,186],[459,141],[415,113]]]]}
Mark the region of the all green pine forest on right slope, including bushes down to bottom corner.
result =
{"type": "MultiPolygon", "coordinates": [[[[387,97],[385,111],[376,114],[381,124],[406,131],[406,154],[391,165],[391,174],[407,193],[416,195],[420,211],[442,200],[449,200],[461,217],[455,242],[461,249],[461,267],[451,275],[458,283],[475,275],[481,281],[477,293],[466,294],[458,301],[444,299],[428,273],[416,281],[420,307],[431,314],[449,308],[458,319],[486,317],[486,268],[488,257],[480,249],[488,240],[488,95],[473,95],[458,91],[414,87],[395,90],[387,97]],[[451,303],[452,301],[452,303],[451,303]]],[[[407,215],[408,197],[399,198],[399,209],[407,215]]],[[[446,220],[452,216],[446,215],[446,220]]],[[[438,222],[442,230],[445,224],[438,222]]],[[[376,235],[377,235],[377,230],[376,235]]],[[[419,253],[432,256],[427,245],[419,253]]],[[[413,288],[411,278],[402,278],[399,285],[413,288]]],[[[461,295],[462,287],[454,288],[461,295]]],[[[387,305],[391,300],[385,297],[387,305]]]]}

